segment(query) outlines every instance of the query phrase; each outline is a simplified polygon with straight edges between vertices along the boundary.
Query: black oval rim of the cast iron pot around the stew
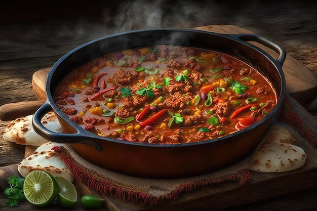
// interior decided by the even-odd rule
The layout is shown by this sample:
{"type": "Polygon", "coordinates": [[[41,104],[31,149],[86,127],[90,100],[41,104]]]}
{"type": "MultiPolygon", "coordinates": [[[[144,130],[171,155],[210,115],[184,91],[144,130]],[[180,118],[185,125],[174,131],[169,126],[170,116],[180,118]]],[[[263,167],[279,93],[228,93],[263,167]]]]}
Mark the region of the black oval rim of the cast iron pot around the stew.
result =
{"type": "MultiPolygon", "coordinates": [[[[48,95],[47,96],[47,102],[51,105],[51,107],[53,108],[53,110],[64,120],[66,121],[69,125],[72,126],[72,128],[74,128],[75,130],[77,130],[81,137],[93,137],[96,138],[97,140],[102,140],[102,141],[109,141],[109,142],[115,142],[115,143],[119,143],[119,144],[129,144],[129,145],[136,145],[136,146],[143,146],[143,147],[188,147],[188,146],[196,146],[196,145],[204,145],[204,144],[210,144],[213,142],[218,142],[218,141],[226,141],[228,139],[231,139],[235,136],[238,136],[240,134],[243,133],[247,133],[248,131],[253,130],[254,128],[256,128],[257,126],[261,125],[263,122],[265,122],[266,120],[270,119],[271,117],[274,117],[274,115],[276,115],[276,112],[279,111],[282,103],[283,103],[283,99],[284,99],[284,95],[285,95],[285,76],[283,73],[282,68],[280,67],[280,65],[276,65],[276,63],[274,62],[274,59],[268,55],[266,52],[264,52],[263,50],[261,50],[260,48],[257,48],[255,46],[250,45],[249,43],[246,43],[245,41],[242,40],[238,40],[236,38],[232,38],[232,36],[227,35],[227,34],[220,34],[220,33],[215,33],[215,32],[208,32],[208,31],[201,31],[201,30],[197,30],[197,29],[178,29],[178,28],[153,28],[153,29],[138,29],[138,30],[132,30],[132,31],[126,31],[126,32],[121,32],[121,33],[115,33],[115,34],[111,34],[111,35],[107,35],[107,36],[103,36],[100,38],[96,38],[93,39],[91,41],[88,41],[87,43],[80,45],[76,48],[74,48],[73,50],[69,51],[68,53],[66,53],[64,56],[62,56],[52,67],[52,69],[50,70],[48,77],[46,79],[46,92],[47,93],[51,93],[50,92],[50,83],[51,83],[51,78],[52,75],[54,74],[55,70],[57,69],[57,67],[60,65],[60,63],[62,63],[68,56],[70,56],[71,54],[73,54],[74,52],[90,45],[93,44],[97,41],[100,41],[102,39],[107,39],[113,36],[120,36],[120,35],[124,35],[124,34],[128,34],[128,33],[139,33],[139,32],[145,32],[145,31],[175,31],[175,32],[195,32],[195,33],[206,33],[206,34],[213,34],[216,36],[224,36],[227,39],[232,39],[234,41],[236,41],[237,43],[241,43],[243,45],[247,45],[252,49],[255,49],[256,51],[260,52],[260,54],[262,54],[262,56],[264,56],[269,62],[271,62],[275,69],[278,70],[279,73],[279,77],[280,77],[280,83],[281,83],[281,92],[280,92],[280,96],[278,98],[278,102],[276,103],[276,105],[274,106],[274,108],[268,113],[266,114],[260,121],[248,126],[247,128],[234,132],[232,134],[226,135],[222,138],[216,138],[216,139],[210,139],[210,140],[205,140],[205,141],[200,141],[200,142],[192,142],[192,143],[181,143],[181,144],[150,144],[150,143],[138,143],[138,142],[128,142],[128,141],[122,141],[122,140],[116,140],[116,139],[112,139],[112,138],[107,138],[107,137],[101,137],[98,136],[97,134],[91,133],[87,130],[85,130],[84,128],[82,128],[80,125],[77,125],[76,123],[74,123],[73,121],[71,121],[63,112],[61,112],[60,109],[58,109],[56,103],[53,100],[53,95],[48,95]]],[[[282,66],[282,65],[281,65],[282,66]]]]}

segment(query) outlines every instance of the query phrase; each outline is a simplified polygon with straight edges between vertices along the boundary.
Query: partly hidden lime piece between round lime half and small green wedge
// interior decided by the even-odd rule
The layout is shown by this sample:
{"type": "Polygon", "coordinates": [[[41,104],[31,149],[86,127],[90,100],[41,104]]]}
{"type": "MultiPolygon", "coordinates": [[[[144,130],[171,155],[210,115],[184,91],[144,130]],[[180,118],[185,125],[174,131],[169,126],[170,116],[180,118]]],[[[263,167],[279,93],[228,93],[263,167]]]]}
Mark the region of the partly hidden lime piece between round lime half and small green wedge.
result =
{"type": "Polygon", "coordinates": [[[66,178],[55,177],[58,183],[58,195],[56,201],[65,208],[73,207],[77,202],[77,191],[75,186],[66,178]]]}

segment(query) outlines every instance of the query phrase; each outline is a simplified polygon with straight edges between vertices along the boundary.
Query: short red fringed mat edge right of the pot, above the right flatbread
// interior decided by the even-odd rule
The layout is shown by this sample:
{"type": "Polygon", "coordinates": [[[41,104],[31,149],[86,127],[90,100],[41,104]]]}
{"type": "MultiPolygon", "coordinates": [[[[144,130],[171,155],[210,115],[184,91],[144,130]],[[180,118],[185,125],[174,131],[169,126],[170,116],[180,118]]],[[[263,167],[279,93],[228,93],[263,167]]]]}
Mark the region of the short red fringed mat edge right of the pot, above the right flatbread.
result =
{"type": "Polygon", "coordinates": [[[301,119],[301,117],[293,111],[292,105],[285,95],[279,119],[291,124],[299,134],[305,138],[312,146],[317,144],[317,134],[309,128],[309,126],[301,119]]]}

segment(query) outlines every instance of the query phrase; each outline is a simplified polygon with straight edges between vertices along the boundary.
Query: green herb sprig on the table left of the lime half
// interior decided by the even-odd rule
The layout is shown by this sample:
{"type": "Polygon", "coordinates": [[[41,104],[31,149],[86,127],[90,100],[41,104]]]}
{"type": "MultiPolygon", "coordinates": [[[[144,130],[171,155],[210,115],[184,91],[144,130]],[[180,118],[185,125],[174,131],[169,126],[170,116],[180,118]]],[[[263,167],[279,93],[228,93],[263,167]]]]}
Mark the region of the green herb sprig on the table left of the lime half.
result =
{"type": "Polygon", "coordinates": [[[8,198],[6,205],[9,207],[18,206],[19,201],[25,201],[23,192],[24,178],[13,175],[8,178],[9,188],[5,189],[5,194],[8,198]]]}

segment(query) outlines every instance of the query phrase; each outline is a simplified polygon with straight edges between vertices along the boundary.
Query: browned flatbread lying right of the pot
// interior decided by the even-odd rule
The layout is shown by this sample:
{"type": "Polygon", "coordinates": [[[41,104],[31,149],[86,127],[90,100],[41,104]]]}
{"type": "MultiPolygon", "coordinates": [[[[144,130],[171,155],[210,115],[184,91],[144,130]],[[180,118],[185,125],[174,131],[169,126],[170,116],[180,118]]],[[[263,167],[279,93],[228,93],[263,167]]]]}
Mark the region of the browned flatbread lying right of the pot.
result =
{"type": "Polygon", "coordinates": [[[282,126],[270,126],[255,149],[250,169],[257,172],[287,172],[303,166],[306,162],[305,151],[293,145],[295,139],[282,126]]]}

